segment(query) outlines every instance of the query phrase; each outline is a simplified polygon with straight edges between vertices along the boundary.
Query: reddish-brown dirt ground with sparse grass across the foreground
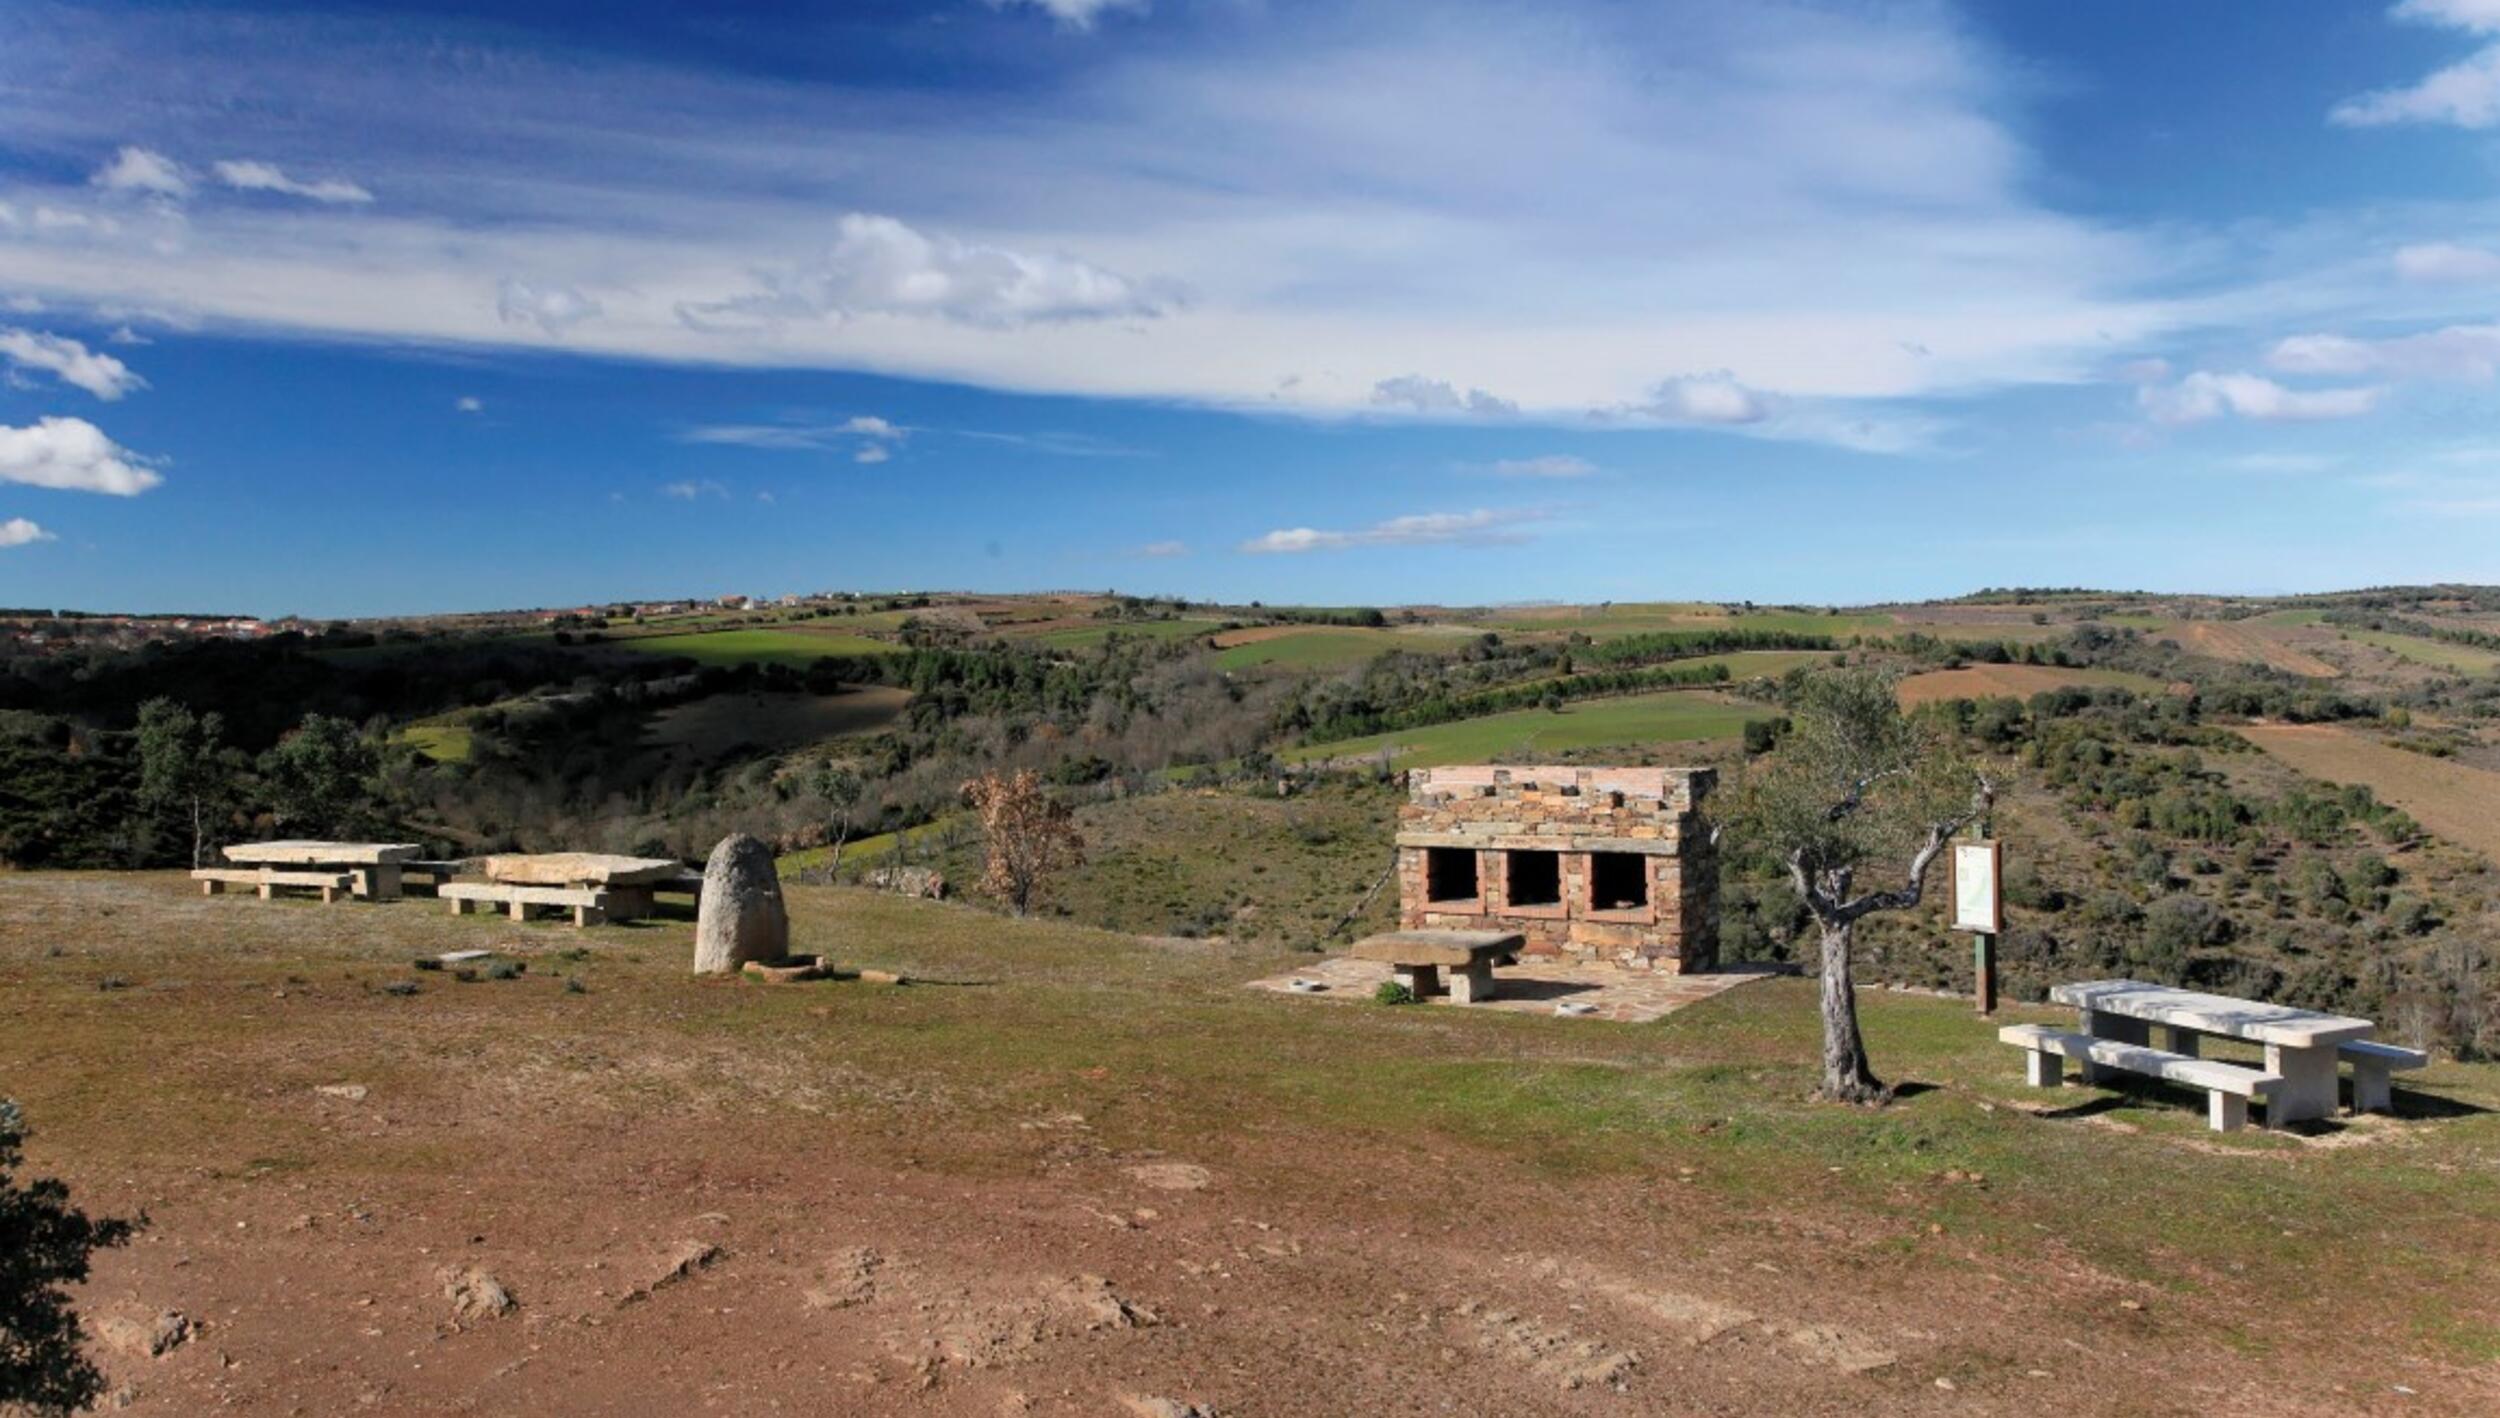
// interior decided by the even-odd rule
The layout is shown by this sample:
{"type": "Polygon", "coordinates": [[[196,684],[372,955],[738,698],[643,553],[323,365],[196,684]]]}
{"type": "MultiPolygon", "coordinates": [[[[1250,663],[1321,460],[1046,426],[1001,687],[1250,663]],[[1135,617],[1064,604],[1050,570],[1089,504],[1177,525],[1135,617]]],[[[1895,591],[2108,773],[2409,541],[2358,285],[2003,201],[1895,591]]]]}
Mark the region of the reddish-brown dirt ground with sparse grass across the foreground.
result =
{"type": "MultiPolygon", "coordinates": [[[[2058,1170],[1942,1165],[1965,1128],[2138,1148],[2110,1168],[2228,1170],[2280,1208],[2258,1233],[2360,1248],[2378,1223],[2342,1200],[2268,1190],[2330,1153],[2278,1138],[2215,1160],[2178,1150],[2205,1145],[2192,1123],[2152,1153],[2118,1115],[2042,1125],[1960,1088],[1885,1115],[1802,1105],[1782,1065],[1745,1060],[1748,1018],[1785,1018],[1802,983],[1660,1025],[1370,1013],[1242,990],[1272,958],[792,900],[802,943],[960,988],[698,985],[685,923],[0,878],[0,1090],[38,1130],[30,1163],[150,1218],[80,1298],[112,1335],[108,1408],[2500,1410],[2492,1365],[2410,1320],[2258,1288],[2282,1270],[2138,1268],[2065,1200],[2025,1210],[2062,1195],[2058,1170]],[[530,973],[408,968],[478,945],[530,973]],[[985,978],[960,978],[975,960],[985,978]],[[405,980],[420,993],[380,988],[405,980]],[[1698,1070],[1675,1085],[1700,1113],[1625,1075],[1660,1048],[1698,1070]],[[1575,1120],[1482,1125],[1518,1088],[1575,1120]],[[1745,1150],[1762,1130],[1778,1153],[1745,1150]],[[1630,1160],[1582,1165],[1618,1143],[1630,1160]],[[198,1328],[150,1358],[168,1310],[198,1328]]],[[[1928,1010],[1900,1028],[1975,1028],[1898,1008],[1928,1010]]],[[[2455,1165],[2490,1180],[2475,1148],[2455,1165]]],[[[2438,1205],[2450,1260],[2488,1255],[2488,1198],[2438,1205]]]]}

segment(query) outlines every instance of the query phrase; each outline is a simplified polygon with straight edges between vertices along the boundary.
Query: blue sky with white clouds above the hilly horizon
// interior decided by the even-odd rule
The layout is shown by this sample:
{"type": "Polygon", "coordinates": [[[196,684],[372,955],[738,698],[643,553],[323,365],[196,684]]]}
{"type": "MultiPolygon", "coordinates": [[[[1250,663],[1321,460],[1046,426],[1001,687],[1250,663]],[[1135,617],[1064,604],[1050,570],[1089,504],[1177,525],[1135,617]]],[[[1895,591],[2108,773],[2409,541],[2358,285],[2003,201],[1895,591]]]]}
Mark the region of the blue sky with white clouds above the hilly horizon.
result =
{"type": "Polygon", "coordinates": [[[2500,580],[2500,0],[10,28],[10,605],[2500,580]]]}

